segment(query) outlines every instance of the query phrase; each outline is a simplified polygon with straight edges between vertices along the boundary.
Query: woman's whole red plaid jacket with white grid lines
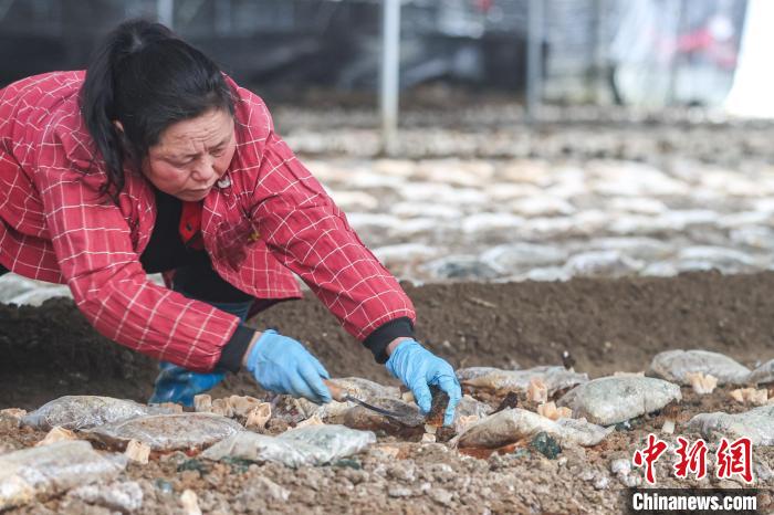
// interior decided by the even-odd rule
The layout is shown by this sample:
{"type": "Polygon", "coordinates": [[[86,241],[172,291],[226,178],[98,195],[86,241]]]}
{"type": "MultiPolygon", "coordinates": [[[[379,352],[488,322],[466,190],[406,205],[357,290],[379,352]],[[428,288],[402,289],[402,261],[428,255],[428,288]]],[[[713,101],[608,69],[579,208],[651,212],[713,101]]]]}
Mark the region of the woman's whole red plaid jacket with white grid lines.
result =
{"type": "MultiPolygon", "coordinates": [[[[66,283],[108,338],[211,370],[239,319],[148,281],[139,255],[156,220],[154,193],[126,168],[117,206],[98,195],[106,175],[77,106],[83,78],[54,72],[0,90],[0,264],[66,283]]],[[[230,84],[237,151],[201,220],[215,270],[278,299],[301,296],[294,272],[359,340],[388,322],[414,322],[409,298],[274,133],[263,101],[230,84]]]]}

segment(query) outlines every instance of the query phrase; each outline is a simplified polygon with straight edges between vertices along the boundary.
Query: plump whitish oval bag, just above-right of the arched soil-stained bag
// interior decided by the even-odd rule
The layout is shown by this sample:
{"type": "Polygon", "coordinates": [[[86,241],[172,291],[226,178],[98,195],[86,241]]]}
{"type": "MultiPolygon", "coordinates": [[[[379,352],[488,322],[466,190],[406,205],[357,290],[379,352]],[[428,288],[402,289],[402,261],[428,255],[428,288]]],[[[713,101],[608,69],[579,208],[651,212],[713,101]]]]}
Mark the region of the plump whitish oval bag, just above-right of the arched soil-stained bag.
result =
{"type": "Polygon", "coordinates": [[[573,410],[573,417],[599,425],[611,425],[660,410],[681,400],[678,385],[652,377],[603,377],[580,385],[558,401],[573,410]]]}

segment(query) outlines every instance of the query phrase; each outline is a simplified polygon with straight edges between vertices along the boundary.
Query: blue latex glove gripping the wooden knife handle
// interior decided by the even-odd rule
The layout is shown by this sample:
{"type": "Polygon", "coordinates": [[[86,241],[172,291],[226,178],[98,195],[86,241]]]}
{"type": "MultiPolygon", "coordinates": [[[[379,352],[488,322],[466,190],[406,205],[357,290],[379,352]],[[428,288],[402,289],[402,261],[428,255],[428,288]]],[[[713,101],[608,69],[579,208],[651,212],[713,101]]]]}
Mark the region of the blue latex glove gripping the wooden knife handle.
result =
{"type": "Polygon", "coordinates": [[[299,341],[268,329],[248,353],[245,368],[263,389],[331,402],[331,391],[323,383],[331,376],[299,341]]]}

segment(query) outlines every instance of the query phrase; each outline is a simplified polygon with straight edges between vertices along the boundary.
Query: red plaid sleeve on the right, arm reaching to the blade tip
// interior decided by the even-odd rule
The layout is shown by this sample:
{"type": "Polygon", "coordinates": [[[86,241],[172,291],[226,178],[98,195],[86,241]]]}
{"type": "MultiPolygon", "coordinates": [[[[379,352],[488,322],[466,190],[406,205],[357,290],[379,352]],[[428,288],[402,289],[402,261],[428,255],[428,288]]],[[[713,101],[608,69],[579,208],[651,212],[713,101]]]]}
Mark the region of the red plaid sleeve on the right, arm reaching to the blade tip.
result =
{"type": "Polygon", "coordinates": [[[262,149],[253,223],[274,256],[296,273],[358,340],[414,306],[363,244],[344,213],[273,132],[262,149]]]}

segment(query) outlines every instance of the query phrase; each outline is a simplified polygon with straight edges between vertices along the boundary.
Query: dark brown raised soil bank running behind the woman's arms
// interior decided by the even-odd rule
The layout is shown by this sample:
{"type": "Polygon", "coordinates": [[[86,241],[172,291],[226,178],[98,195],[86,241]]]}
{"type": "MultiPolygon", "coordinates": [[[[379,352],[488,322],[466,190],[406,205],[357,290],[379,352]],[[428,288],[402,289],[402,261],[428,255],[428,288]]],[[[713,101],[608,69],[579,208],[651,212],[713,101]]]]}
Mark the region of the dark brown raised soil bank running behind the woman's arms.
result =
{"type": "MultiPolygon", "coordinates": [[[[672,278],[576,278],[566,283],[404,284],[420,341],[456,368],[561,365],[592,377],[645,370],[673,348],[728,354],[746,366],[774,357],[774,273],[692,273],[672,278]]],[[[314,296],[250,320],[297,338],[333,376],[396,383],[314,296]]],[[[0,305],[0,408],[34,409],[63,395],[147,401],[156,364],[98,335],[69,299],[0,305]]],[[[213,396],[254,395],[231,377],[213,396]]]]}

